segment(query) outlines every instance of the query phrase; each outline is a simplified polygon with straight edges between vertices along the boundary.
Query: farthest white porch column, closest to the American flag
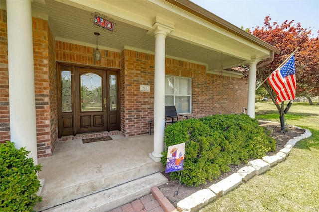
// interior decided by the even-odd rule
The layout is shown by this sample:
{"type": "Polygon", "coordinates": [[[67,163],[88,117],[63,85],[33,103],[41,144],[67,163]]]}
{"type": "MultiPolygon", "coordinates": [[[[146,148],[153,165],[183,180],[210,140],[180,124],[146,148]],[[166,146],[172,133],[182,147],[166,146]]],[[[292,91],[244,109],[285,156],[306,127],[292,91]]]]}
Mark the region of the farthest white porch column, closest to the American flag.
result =
{"type": "Polygon", "coordinates": [[[248,98],[247,98],[247,115],[255,118],[255,88],[256,88],[256,67],[258,61],[255,60],[248,64],[248,98]]]}

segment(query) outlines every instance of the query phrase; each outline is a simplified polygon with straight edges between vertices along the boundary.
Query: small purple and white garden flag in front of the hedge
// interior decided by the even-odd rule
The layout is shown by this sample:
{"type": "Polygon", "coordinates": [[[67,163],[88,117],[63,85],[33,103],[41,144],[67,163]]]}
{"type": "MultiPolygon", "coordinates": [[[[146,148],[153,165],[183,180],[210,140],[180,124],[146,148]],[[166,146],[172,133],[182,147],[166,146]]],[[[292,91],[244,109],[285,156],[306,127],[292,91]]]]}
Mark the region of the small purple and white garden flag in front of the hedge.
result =
{"type": "Polygon", "coordinates": [[[185,143],[169,146],[167,152],[166,173],[184,169],[185,143]]]}

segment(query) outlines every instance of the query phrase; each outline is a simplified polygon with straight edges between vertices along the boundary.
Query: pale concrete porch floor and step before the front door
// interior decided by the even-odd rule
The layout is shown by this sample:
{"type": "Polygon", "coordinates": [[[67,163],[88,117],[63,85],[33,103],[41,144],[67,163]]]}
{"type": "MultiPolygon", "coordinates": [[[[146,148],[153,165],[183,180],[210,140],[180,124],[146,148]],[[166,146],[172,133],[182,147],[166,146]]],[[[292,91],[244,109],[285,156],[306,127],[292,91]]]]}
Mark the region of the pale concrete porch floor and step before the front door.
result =
{"type": "MultiPolygon", "coordinates": [[[[153,136],[111,136],[110,141],[60,141],[51,157],[39,158],[44,179],[38,212],[105,212],[150,194],[168,180],[149,157],[153,136]]],[[[151,204],[151,203],[149,203],[151,204]]],[[[144,207],[147,208],[147,207],[144,207]]]]}

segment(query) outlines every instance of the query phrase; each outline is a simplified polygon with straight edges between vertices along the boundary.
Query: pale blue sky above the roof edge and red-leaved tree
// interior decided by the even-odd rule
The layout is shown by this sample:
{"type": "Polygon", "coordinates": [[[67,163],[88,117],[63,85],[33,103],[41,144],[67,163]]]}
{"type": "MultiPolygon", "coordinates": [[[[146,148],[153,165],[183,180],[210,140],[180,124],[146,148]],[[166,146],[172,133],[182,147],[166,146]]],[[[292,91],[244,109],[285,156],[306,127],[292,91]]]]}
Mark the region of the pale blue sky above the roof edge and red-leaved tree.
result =
{"type": "Polygon", "coordinates": [[[312,30],[317,37],[319,30],[319,0],[190,0],[237,27],[264,26],[264,18],[282,24],[294,20],[301,27],[312,30]]]}

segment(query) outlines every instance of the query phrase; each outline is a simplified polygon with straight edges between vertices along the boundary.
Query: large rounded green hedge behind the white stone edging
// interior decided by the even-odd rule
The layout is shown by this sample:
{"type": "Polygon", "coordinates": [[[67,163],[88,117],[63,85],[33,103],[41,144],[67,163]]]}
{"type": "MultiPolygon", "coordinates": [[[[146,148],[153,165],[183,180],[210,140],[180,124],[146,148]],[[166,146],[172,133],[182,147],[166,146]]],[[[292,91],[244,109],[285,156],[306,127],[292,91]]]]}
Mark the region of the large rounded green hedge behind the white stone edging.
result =
{"type": "MultiPolygon", "coordinates": [[[[165,128],[165,152],[161,161],[166,167],[167,148],[186,143],[181,182],[199,186],[228,172],[230,165],[261,158],[276,148],[256,119],[241,115],[215,115],[179,121],[165,128]]],[[[171,172],[178,179],[180,172],[171,172]]]]}

